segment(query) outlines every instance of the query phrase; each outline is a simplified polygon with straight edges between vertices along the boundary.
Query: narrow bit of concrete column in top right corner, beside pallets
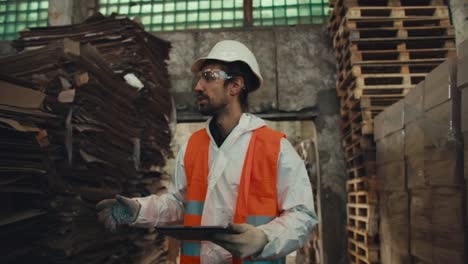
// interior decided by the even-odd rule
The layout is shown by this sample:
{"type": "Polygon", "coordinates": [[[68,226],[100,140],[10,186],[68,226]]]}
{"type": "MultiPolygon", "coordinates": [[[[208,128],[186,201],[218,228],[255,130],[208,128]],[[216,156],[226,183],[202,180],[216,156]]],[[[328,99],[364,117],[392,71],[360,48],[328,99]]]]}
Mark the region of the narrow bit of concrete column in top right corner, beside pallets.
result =
{"type": "Polygon", "coordinates": [[[455,27],[457,45],[468,39],[468,0],[450,0],[450,12],[455,27]]]}

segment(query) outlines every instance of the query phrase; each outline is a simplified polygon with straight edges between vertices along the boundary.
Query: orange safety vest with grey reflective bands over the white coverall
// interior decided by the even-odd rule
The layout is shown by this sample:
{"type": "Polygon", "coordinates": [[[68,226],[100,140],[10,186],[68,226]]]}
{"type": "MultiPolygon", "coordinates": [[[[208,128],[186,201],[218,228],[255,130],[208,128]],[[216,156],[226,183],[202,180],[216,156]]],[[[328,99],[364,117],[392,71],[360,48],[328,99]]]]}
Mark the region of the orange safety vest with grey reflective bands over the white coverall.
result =
{"type": "MultiPolygon", "coordinates": [[[[276,185],[280,142],[283,137],[284,134],[266,126],[254,130],[242,169],[234,223],[259,226],[279,216],[276,185]]],[[[209,146],[210,138],[205,129],[195,132],[187,144],[184,157],[187,177],[184,213],[186,226],[201,225],[208,189],[209,146]]],[[[199,241],[183,241],[180,263],[199,264],[200,248],[199,241]]],[[[279,264],[286,263],[286,258],[261,261],[234,259],[233,263],[279,264]]]]}

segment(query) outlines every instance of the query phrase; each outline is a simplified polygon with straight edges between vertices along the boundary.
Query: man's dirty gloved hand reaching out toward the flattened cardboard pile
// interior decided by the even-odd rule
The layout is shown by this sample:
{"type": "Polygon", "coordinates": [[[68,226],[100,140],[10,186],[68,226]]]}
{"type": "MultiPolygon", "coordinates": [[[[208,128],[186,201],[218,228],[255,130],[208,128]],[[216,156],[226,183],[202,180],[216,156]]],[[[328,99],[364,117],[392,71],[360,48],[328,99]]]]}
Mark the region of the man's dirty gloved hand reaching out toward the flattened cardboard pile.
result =
{"type": "Polygon", "coordinates": [[[96,205],[98,220],[114,231],[117,225],[133,223],[140,211],[140,203],[130,198],[117,195],[115,199],[106,199],[96,205]]]}

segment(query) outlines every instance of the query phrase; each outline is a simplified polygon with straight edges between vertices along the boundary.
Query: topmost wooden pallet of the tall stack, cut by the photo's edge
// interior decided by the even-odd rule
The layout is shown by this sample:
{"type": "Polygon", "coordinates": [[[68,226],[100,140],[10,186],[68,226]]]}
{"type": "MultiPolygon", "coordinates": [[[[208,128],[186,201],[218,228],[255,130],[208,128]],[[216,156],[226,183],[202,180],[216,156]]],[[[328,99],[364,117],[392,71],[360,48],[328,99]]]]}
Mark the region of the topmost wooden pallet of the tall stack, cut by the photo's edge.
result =
{"type": "Polygon", "coordinates": [[[444,5],[443,0],[338,0],[334,6],[436,6],[444,5]]]}

